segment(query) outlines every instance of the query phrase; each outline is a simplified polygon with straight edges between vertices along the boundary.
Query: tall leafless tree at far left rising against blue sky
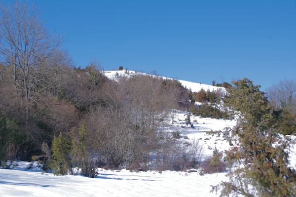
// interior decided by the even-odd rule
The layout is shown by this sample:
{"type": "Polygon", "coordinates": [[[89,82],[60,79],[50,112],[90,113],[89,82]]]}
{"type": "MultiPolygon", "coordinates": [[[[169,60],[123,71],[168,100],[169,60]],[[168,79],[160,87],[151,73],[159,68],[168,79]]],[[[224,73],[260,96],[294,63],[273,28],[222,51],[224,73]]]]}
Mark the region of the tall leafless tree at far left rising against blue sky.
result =
{"type": "Polygon", "coordinates": [[[22,92],[28,121],[31,98],[42,80],[37,79],[37,70],[45,65],[61,39],[49,35],[34,5],[19,1],[0,7],[0,62],[10,67],[15,89],[22,92]]]}

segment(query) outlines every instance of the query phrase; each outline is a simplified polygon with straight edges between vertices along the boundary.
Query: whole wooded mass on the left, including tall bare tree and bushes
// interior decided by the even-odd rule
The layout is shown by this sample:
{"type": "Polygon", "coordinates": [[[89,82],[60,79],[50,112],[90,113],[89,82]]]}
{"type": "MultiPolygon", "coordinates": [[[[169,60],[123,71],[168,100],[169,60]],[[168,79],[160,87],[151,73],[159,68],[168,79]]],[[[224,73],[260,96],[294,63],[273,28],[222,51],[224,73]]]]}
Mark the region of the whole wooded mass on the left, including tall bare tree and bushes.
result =
{"type": "Polygon", "coordinates": [[[0,10],[0,160],[39,159],[57,174],[79,167],[91,177],[96,166],[181,169],[196,161],[196,151],[157,130],[190,104],[179,81],[110,80],[96,62],[74,68],[34,6],[16,2],[0,10]]]}

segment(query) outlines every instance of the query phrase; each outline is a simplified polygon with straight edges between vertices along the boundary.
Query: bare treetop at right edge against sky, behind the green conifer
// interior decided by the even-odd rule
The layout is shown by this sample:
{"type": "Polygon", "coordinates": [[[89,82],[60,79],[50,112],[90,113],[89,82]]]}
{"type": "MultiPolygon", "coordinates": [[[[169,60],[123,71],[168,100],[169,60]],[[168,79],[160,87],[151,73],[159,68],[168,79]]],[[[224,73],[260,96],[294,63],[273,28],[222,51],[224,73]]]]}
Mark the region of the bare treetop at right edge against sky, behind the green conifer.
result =
{"type": "Polygon", "coordinates": [[[271,105],[277,109],[287,108],[296,114],[296,81],[281,80],[267,89],[267,96],[271,105]]]}

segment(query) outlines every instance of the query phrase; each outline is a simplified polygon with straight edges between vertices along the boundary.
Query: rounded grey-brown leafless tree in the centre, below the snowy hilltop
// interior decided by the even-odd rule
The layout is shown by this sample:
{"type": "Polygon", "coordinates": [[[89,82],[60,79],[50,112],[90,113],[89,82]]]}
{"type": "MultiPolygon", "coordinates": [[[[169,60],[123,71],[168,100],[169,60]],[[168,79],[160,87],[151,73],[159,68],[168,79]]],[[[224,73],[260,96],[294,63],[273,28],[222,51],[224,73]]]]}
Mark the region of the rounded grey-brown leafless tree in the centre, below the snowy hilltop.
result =
{"type": "Polygon", "coordinates": [[[135,75],[104,83],[101,106],[93,108],[85,122],[92,144],[109,166],[139,166],[147,162],[151,151],[159,149],[157,126],[168,114],[164,111],[171,110],[169,101],[173,99],[172,89],[164,88],[162,82],[157,77],[135,75]]]}

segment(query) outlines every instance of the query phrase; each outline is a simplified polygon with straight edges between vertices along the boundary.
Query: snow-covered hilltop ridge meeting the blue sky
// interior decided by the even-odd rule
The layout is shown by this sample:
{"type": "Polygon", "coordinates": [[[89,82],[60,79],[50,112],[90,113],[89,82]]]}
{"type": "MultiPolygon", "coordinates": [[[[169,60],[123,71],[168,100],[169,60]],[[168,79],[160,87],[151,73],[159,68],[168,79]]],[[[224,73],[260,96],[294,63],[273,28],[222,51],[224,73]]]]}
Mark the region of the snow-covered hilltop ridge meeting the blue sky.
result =
{"type": "MultiPolygon", "coordinates": [[[[128,71],[128,70],[122,70],[122,71],[102,71],[102,73],[108,77],[109,79],[116,79],[116,76],[127,76],[127,77],[131,77],[133,75],[151,75],[151,74],[146,74],[146,73],[140,73],[140,72],[136,72],[136,71],[128,71]]],[[[167,78],[167,77],[162,77],[162,76],[158,76],[160,78],[163,79],[173,79],[173,78],[167,78]]],[[[225,91],[225,88],[223,87],[217,87],[217,86],[213,86],[213,85],[207,85],[207,84],[203,84],[203,83],[196,83],[196,82],[191,82],[191,81],[186,81],[186,80],[178,80],[183,86],[185,86],[188,89],[191,89],[192,92],[198,92],[199,90],[201,90],[202,88],[204,90],[210,90],[210,91],[214,91],[214,90],[223,90],[225,91]]]]}

